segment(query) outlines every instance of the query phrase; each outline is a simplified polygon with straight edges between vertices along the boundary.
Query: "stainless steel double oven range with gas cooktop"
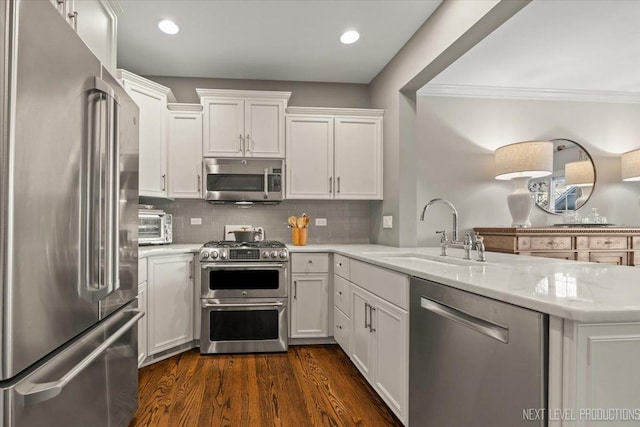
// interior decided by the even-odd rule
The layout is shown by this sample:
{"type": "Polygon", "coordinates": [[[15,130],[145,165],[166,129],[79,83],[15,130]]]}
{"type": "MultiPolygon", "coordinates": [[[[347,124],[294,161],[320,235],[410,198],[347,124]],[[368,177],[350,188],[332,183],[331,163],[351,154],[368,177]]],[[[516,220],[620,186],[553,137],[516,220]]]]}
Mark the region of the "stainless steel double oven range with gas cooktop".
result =
{"type": "Polygon", "coordinates": [[[200,250],[200,353],[286,351],[289,252],[280,242],[200,250]]]}

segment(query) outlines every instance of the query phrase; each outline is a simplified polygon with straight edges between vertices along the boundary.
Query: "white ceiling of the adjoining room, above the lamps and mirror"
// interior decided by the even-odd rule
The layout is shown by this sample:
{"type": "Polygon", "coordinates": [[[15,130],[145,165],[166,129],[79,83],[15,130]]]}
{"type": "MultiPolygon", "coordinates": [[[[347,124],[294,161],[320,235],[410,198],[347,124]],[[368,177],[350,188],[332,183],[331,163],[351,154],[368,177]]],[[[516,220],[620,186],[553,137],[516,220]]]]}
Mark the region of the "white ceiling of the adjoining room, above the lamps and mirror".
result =
{"type": "Polygon", "coordinates": [[[639,22],[637,0],[534,0],[429,85],[640,92],[639,22]]]}

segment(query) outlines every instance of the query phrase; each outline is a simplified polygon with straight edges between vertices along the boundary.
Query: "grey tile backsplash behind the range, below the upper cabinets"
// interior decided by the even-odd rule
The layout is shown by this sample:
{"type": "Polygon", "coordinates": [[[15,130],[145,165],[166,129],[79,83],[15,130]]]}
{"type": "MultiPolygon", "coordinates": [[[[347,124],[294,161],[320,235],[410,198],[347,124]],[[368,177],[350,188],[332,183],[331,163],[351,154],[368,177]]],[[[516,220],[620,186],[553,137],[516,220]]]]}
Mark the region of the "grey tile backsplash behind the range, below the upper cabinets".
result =
{"type": "Polygon", "coordinates": [[[307,244],[369,243],[369,205],[366,200],[285,200],[279,205],[242,209],[234,205],[212,205],[204,200],[155,202],[159,209],[173,215],[174,243],[221,240],[226,224],[264,227],[268,240],[291,243],[287,218],[303,212],[311,217],[307,244]],[[202,218],[202,225],[191,225],[191,218],[202,218]],[[316,227],[316,218],[327,218],[327,226],[316,227]]]}

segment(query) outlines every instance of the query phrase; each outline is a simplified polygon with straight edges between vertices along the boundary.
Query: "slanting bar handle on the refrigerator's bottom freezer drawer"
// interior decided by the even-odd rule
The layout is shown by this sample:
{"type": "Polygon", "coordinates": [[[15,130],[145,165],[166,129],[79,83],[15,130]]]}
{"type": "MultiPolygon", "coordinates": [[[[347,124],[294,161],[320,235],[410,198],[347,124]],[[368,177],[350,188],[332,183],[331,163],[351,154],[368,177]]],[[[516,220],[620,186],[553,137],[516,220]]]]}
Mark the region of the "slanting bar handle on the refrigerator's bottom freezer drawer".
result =
{"type": "MultiPolygon", "coordinates": [[[[44,402],[54,397],[58,396],[62,390],[65,388],[67,384],[73,381],[82,371],[84,371],[89,365],[91,365],[102,353],[104,353],[109,347],[111,347],[121,336],[123,336],[129,329],[134,327],[138,320],[140,320],[144,313],[138,309],[133,310],[125,310],[123,314],[133,314],[133,317],[129,319],[124,325],[122,325],[115,333],[113,333],[109,338],[103,341],[98,347],[96,347],[91,353],[89,353],[84,359],[80,361],[76,366],[71,368],[66,374],[62,376],[59,380],[46,382],[46,383],[31,383],[29,381],[25,381],[16,385],[15,391],[17,397],[21,400],[21,403],[24,406],[34,405],[36,403],[44,402]]],[[[106,322],[118,323],[121,320],[121,316],[115,316],[106,322]]],[[[105,325],[108,326],[108,325],[105,325]]],[[[70,347],[68,350],[72,351],[73,347],[70,347]]],[[[42,369],[42,372],[38,372],[38,374],[43,374],[46,376],[46,365],[45,368],[42,369]]]]}

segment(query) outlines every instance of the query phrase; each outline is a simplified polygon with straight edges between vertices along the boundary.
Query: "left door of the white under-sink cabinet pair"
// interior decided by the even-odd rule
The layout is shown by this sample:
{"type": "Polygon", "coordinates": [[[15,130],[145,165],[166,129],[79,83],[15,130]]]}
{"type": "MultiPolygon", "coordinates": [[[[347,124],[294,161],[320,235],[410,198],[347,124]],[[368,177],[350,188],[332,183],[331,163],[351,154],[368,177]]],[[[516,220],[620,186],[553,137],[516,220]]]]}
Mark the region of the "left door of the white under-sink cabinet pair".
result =
{"type": "Polygon", "coordinates": [[[367,380],[373,379],[373,332],[369,306],[371,294],[358,286],[351,286],[351,361],[367,380]]]}

